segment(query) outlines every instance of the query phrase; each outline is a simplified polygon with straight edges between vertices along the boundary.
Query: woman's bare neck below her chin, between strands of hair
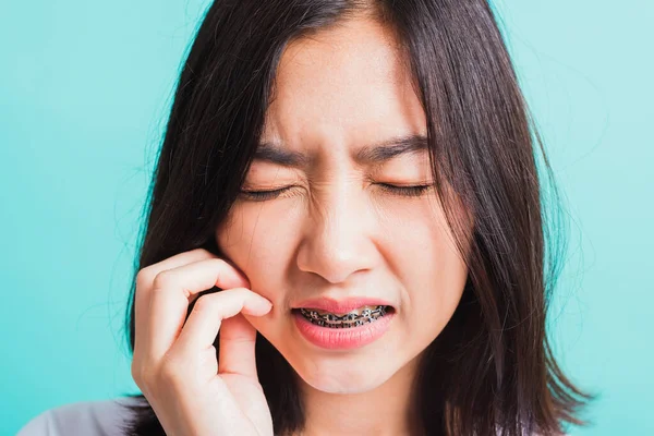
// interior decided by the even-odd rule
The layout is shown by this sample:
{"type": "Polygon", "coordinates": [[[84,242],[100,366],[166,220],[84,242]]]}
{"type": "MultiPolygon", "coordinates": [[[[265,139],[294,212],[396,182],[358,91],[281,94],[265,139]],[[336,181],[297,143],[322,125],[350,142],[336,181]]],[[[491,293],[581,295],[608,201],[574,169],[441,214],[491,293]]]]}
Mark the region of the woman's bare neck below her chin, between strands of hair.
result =
{"type": "Polygon", "coordinates": [[[355,395],[327,393],[300,379],[304,431],[293,436],[421,436],[413,383],[420,355],[382,386],[355,395]]]}

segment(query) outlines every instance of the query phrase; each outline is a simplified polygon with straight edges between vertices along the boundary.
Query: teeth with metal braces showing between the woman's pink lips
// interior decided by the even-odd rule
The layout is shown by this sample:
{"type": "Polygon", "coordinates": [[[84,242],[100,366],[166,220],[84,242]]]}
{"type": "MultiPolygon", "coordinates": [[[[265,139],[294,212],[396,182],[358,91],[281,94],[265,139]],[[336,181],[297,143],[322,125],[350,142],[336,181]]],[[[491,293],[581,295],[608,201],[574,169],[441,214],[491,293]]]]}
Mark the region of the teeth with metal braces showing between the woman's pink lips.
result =
{"type": "Polygon", "coordinates": [[[316,326],[347,329],[376,323],[380,318],[393,314],[395,308],[390,305],[365,305],[347,313],[334,313],[311,307],[296,307],[291,312],[316,326]]]}

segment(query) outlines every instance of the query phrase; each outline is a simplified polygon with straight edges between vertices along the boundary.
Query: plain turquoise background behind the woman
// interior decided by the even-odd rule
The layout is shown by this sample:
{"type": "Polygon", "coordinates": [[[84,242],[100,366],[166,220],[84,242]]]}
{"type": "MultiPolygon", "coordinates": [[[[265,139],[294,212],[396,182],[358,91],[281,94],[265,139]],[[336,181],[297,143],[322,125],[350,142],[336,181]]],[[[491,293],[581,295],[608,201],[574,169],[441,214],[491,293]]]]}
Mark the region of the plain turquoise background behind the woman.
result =
{"type": "MultiPolygon", "coordinates": [[[[122,331],[137,218],[207,1],[0,5],[0,434],[136,390],[122,331]]],[[[571,435],[654,435],[651,0],[495,3],[570,218],[555,348],[600,390],[571,435]]]]}

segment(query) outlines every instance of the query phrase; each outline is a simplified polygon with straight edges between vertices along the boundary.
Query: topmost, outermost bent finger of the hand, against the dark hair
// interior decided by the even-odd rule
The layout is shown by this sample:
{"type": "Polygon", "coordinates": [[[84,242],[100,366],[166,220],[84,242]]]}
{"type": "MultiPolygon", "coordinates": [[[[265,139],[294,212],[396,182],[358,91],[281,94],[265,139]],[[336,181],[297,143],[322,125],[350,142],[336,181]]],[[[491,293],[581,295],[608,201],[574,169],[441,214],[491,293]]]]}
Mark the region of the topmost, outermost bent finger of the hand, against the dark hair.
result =
{"type": "MultiPolygon", "coordinates": [[[[134,344],[141,343],[142,339],[145,339],[148,335],[146,331],[145,319],[149,312],[149,303],[152,296],[153,281],[155,277],[167,269],[177,268],[183,265],[192,264],[194,262],[217,258],[213,253],[204,250],[196,249],[189,252],[177,254],[172,257],[168,257],[165,261],[147,266],[138,271],[136,278],[136,291],[134,295],[134,322],[136,325],[134,344]]],[[[250,287],[250,286],[249,286],[250,287]]],[[[140,347],[134,347],[135,351],[140,350],[140,347]]]]}

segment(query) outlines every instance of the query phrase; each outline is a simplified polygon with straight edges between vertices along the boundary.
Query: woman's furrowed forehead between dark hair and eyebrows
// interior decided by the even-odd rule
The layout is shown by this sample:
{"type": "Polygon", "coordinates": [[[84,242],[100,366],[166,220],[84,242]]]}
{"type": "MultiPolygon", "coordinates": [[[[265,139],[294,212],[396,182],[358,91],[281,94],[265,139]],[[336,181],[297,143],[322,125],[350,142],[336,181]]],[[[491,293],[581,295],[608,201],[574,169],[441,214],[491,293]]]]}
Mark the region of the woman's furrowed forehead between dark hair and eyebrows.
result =
{"type": "Polygon", "coordinates": [[[425,132],[392,32],[358,19],[287,46],[262,142],[332,150],[425,132]]]}

